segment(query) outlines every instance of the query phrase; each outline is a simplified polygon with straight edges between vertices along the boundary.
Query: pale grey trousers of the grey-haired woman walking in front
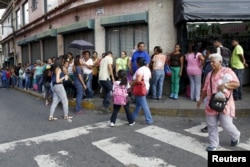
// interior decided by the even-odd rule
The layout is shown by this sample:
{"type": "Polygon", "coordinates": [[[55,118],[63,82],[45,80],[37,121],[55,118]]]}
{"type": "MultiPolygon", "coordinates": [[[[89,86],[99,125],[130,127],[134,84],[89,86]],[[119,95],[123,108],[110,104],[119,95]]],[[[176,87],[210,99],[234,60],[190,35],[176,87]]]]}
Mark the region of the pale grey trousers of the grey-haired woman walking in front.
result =
{"type": "Polygon", "coordinates": [[[218,115],[207,115],[206,121],[210,147],[219,146],[218,121],[220,121],[221,127],[229,133],[231,140],[239,139],[240,132],[233,124],[233,118],[231,116],[225,115],[224,113],[219,113],[218,115]]]}

